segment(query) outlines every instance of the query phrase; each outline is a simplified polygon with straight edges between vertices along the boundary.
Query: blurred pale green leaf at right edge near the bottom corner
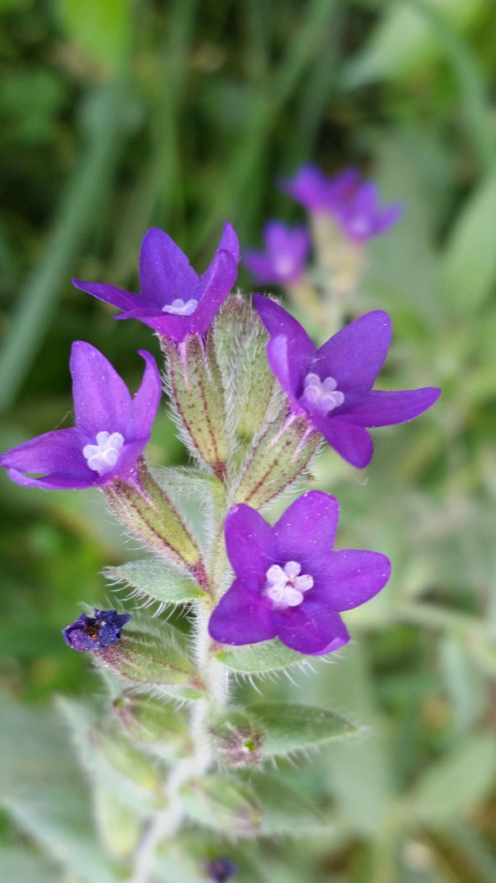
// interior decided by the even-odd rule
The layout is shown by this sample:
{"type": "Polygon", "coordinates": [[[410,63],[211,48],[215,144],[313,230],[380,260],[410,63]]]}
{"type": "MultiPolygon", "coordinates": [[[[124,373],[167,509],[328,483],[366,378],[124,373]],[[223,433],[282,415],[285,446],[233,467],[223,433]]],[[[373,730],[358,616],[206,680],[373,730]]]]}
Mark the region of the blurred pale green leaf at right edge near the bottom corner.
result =
{"type": "Polygon", "coordinates": [[[471,736],[425,772],[410,794],[410,809],[430,825],[442,825],[484,800],[495,778],[496,737],[471,736]]]}

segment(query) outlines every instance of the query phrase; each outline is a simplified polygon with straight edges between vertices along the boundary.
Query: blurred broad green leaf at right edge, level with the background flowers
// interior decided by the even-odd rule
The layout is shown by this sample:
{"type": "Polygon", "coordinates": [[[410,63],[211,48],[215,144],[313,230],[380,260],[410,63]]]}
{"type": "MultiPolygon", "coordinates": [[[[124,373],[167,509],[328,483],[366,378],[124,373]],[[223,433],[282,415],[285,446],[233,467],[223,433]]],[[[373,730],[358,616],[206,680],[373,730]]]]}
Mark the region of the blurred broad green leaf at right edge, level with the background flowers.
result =
{"type": "Polygon", "coordinates": [[[443,291],[449,306],[477,313],[496,282],[496,173],[470,195],[447,244],[443,291]]]}

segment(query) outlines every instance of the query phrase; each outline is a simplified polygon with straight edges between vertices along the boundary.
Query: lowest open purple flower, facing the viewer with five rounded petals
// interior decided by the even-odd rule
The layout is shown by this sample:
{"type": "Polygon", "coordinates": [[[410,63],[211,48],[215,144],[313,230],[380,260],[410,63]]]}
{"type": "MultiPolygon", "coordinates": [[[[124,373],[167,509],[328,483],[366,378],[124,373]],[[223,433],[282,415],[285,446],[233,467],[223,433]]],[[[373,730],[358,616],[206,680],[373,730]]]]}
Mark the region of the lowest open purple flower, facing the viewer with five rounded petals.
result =
{"type": "Polygon", "coordinates": [[[309,491],[270,527],[250,506],[225,523],[235,581],[210,618],[222,644],[279,638],[298,653],[320,655],[349,641],[339,611],[364,604],[386,585],[390,564],[376,552],[332,552],[339,503],[309,491]]]}

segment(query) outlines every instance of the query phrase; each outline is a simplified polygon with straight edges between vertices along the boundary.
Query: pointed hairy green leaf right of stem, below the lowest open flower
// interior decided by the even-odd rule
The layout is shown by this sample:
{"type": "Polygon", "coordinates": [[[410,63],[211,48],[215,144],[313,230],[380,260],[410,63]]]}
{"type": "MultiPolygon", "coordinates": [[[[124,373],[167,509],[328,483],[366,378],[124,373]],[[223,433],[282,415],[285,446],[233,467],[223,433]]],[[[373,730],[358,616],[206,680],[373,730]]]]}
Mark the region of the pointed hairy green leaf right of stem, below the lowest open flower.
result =
{"type": "Polygon", "coordinates": [[[265,755],[286,754],[357,732],[339,714],[297,702],[257,702],[248,712],[261,724],[265,755]]]}

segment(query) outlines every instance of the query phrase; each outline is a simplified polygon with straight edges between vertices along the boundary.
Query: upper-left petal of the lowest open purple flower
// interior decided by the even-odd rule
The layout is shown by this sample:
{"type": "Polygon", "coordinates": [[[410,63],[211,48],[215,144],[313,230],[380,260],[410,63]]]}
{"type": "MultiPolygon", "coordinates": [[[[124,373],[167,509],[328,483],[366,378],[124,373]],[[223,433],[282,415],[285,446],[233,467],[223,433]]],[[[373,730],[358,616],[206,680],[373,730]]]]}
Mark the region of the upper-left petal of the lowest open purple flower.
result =
{"type": "Polygon", "coordinates": [[[272,563],[272,528],[267,521],[242,503],[229,510],[224,532],[229,561],[237,577],[264,577],[272,563]]]}

